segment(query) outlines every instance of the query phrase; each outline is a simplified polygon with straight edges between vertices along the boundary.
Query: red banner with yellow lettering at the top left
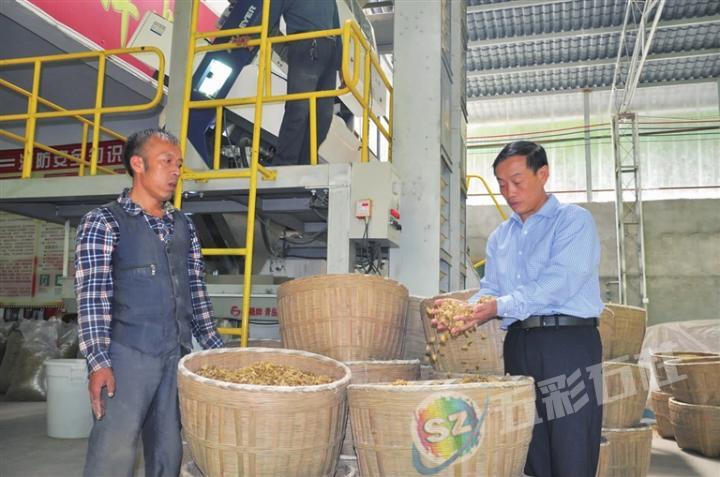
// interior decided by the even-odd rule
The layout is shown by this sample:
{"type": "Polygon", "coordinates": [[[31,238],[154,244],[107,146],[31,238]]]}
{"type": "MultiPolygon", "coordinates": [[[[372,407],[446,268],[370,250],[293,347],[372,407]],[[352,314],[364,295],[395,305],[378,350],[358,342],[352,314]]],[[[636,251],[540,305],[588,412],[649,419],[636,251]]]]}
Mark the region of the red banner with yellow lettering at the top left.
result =
{"type": "MultiPolygon", "coordinates": [[[[172,21],[175,0],[28,0],[68,28],[86,37],[100,48],[124,48],[147,12],[155,12],[172,21]]],[[[188,1],[188,0],[181,0],[188,1]]],[[[200,2],[198,29],[215,29],[217,15],[200,2]]],[[[125,56],[128,63],[148,73],[148,68],[135,58],[125,56]]]]}

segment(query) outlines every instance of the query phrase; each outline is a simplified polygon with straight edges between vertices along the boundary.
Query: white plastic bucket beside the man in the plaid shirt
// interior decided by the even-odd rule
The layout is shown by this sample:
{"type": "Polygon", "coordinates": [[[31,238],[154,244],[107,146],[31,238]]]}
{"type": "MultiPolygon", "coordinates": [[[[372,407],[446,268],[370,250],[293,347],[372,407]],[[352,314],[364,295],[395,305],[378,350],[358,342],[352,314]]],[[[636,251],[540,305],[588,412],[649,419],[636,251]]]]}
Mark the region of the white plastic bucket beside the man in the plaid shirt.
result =
{"type": "Polygon", "coordinates": [[[49,359],[47,371],[48,436],[80,439],[90,435],[92,410],[84,359],[49,359]]]}

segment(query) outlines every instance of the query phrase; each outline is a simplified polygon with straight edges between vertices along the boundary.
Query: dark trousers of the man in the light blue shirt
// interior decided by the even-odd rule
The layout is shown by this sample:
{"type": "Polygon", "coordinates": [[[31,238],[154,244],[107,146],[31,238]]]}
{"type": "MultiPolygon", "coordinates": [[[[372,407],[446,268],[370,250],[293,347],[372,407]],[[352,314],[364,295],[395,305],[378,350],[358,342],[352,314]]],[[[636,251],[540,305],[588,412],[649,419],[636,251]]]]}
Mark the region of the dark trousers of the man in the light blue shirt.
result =
{"type": "Polygon", "coordinates": [[[504,354],[506,373],[535,379],[537,416],[525,473],[595,477],[602,428],[597,328],[511,328],[504,354]]]}

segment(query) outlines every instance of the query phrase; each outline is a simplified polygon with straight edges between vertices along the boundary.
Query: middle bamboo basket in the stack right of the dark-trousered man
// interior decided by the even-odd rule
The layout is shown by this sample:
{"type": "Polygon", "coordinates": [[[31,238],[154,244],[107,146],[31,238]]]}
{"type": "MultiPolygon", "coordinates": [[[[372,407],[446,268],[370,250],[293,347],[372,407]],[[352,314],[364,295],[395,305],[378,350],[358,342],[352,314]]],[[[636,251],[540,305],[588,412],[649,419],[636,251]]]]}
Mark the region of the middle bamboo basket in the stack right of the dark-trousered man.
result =
{"type": "Polygon", "coordinates": [[[603,427],[632,427],[647,402],[649,372],[632,363],[603,363],[603,427]]]}

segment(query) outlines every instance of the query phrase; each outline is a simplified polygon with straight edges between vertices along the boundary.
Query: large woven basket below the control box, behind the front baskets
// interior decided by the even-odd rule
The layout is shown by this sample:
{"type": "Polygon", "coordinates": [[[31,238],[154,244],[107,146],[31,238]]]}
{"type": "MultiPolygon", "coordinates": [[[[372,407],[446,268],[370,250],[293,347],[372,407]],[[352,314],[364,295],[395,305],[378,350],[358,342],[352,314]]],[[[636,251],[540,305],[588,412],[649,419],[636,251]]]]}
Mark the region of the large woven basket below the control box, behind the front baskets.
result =
{"type": "Polygon", "coordinates": [[[408,291],[374,275],[316,275],[277,292],[285,348],[339,361],[400,359],[408,291]]]}

